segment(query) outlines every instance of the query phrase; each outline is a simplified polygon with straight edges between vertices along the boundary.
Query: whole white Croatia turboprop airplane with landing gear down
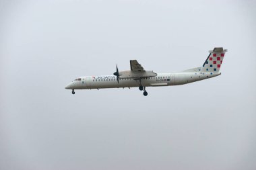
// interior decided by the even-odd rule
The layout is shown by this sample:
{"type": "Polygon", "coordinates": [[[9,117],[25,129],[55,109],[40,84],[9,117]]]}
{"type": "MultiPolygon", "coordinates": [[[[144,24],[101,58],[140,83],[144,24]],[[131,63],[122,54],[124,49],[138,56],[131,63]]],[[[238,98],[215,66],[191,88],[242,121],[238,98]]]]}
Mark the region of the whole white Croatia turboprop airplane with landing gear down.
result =
{"type": "Polygon", "coordinates": [[[117,71],[113,75],[78,77],[71,81],[65,89],[71,89],[72,94],[75,94],[75,89],[139,87],[139,90],[143,91],[143,95],[146,96],[148,95],[146,87],[184,85],[220,75],[220,66],[227,51],[222,47],[214,48],[209,51],[210,54],[203,66],[173,73],[146,71],[137,60],[130,60],[131,69],[129,71],[119,71],[117,67],[117,71]]]}

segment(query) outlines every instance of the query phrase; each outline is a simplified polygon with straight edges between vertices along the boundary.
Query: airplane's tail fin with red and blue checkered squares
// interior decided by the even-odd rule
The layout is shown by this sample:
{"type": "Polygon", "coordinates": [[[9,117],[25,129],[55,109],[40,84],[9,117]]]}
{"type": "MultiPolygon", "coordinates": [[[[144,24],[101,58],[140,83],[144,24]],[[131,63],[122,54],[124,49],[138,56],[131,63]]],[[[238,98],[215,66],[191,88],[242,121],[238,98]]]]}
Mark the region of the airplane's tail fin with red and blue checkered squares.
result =
{"type": "Polygon", "coordinates": [[[210,50],[210,54],[203,63],[203,67],[201,67],[202,72],[212,72],[218,73],[220,71],[220,66],[222,65],[223,58],[225,56],[225,52],[228,50],[223,50],[222,47],[216,47],[214,50],[210,50]]]}

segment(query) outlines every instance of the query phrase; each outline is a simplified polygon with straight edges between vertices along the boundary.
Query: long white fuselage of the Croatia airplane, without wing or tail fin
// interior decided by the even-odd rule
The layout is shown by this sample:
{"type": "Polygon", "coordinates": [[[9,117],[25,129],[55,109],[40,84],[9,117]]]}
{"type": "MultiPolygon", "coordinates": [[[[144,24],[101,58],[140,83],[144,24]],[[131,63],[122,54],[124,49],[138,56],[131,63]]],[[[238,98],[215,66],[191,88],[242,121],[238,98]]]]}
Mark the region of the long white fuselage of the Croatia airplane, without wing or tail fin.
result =
{"type": "MultiPolygon", "coordinates": [[[[220,73],[177,72],[158,73],[156,77],[141,79],[143,87],[183,85],[203,79],[216,77],[220,73]]],[[[115,75],[79,77],[65,87],[65,89],[102,89],[119,87],[139,87],[139,79],[119,79],[115,75]]]]}

